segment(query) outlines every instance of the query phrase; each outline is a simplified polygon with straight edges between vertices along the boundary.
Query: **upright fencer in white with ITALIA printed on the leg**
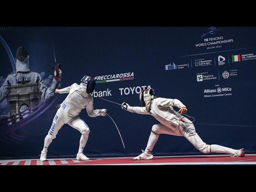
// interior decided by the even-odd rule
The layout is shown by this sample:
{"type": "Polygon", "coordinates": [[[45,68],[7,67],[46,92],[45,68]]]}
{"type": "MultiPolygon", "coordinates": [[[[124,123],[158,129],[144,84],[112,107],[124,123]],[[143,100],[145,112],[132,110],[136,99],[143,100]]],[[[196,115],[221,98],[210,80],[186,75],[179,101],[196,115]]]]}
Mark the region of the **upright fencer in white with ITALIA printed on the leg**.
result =
{"type": "Polygon", "coordinates": [[[79,116],[82,109],[86,108],[88,116],[106,116],[106,109],[94,110],[93,107],[93,97],[90,95],[95,88],[95,79],[89,76],[84,76],[81,79],[80,85],[74,83],[69,87],[63,89],[56,89],[56,93],[64,94],[68,93],[66,99],[60,104],[54,119],[52,121],[52,126],[44,139],[44,148],[41,152],[41,161],[47,160],[48,147],[52,140],[56,138],[58,131],[64,124],[69,124],[73,128],[77,129],[82,135],[80,138],[80,145],[78,153],[76,155],[77,160],[89,160],[83,154],[84,147],[88,140],[90,129],[86,122],[82,120],[79,116]]]}

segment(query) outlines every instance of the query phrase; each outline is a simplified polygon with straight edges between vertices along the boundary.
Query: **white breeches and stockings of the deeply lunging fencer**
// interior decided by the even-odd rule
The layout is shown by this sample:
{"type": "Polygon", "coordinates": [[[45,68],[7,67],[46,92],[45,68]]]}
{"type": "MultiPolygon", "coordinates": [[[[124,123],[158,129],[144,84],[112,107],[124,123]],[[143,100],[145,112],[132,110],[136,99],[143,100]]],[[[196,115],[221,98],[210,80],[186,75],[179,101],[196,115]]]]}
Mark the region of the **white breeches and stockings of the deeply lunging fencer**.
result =
{"type": "MultiPolygon", "coordinates": [[[[184,123],[182,123],[184,125],[184,123]]],[[[184,127],[184,126],[183,126],[184,127]]],[[[155,124],[152,126],[152,131],[150,134],[150,138],[148,140],[148,145],[146,147],[147,151],[152,151],[153,147],[158,140],[159,134],[169,134],[169,135],[175,135],[175,136],[184,136],[196,149],[198,149],[200,152],[203,153],[210,153],[210,152],[216,152],[216,153],[226,153],[226,154],[234,154],[235,150],[232,148],[227,148],[220,145],[208,145],[198,136],[196,133],[196,129],[191,124],[188,125],[188,127],[185,127],[186,131],[182,131],[182,126],[180,126],[180,132],[181,134],[178,135],[177,132],[172,130],[171,128],[168,128],[167,126],[163,124],[155,124]]]]}

